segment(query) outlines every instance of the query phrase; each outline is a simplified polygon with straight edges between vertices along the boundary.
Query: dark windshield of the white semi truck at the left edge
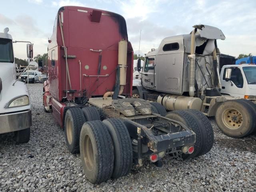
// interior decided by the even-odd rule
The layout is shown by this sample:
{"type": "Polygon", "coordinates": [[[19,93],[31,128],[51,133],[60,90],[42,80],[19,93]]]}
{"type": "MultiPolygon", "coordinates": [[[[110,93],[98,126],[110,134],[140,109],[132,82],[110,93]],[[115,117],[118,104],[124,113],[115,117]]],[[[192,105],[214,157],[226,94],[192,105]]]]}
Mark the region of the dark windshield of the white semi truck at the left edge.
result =
{"type": "Polygon", "coordinates": [[[13,63],[12,40],[0,38],[0,62],[13,63]]]}

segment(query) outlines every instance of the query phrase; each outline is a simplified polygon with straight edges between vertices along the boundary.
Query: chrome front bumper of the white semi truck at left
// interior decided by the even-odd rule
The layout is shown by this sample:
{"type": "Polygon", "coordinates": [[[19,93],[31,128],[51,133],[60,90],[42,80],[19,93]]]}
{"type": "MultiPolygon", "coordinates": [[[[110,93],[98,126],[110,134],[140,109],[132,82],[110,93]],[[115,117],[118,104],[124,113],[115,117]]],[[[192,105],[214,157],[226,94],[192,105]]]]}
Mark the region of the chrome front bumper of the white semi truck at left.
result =
{"type": "Polygon", "coordinates": [[[0,114],[0,134],[30,128],[31,125],[31,110],[0,114]]]}

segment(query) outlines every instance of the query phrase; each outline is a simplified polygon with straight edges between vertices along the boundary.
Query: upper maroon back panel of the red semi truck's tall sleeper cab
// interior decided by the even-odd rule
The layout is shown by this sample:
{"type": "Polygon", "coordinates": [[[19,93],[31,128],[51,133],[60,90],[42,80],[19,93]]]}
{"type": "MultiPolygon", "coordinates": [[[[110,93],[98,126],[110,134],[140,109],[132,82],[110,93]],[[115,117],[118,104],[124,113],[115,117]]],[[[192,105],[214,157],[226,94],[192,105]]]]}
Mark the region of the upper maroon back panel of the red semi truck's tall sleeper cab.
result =
{"type": "Polygon", "coordinates": [[[102,15],[94,23],[89,12],[69,11],[68,34],[71,47],[118,50],[119,23],[112,16],[102,15]]]}

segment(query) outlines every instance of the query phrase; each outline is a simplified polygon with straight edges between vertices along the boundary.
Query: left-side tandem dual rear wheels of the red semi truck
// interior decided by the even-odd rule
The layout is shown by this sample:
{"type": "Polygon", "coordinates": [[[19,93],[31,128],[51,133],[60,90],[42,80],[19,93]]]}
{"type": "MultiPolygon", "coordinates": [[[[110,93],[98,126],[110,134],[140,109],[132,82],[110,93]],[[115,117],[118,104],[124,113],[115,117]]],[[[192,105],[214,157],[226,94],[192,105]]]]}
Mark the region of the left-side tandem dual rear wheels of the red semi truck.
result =
{"type": "Polygon", "coordinates": [[[68,150],[79,153],[84,172],[92,183],[126,176],[132,167],[132,142],[118,118],[100,120],[94,107],[70,108],[64,131],[68,150]]]}

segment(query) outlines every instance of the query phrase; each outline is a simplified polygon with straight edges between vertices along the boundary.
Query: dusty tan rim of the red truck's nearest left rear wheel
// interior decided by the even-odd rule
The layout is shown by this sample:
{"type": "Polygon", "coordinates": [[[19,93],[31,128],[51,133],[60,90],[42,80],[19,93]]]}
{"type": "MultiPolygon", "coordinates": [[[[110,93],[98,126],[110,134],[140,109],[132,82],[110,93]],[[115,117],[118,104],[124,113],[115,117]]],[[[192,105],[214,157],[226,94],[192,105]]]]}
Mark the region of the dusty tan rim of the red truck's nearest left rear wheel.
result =
{"type": "Polygon", "coordinates": [[[92,171],[92,168],[94,167],[94,156],[93,156],[93,148],[92,148],[92,142],[88,135],[84,138],[84,162],[86,164],[86,167],[89,171],[92,171]]]}

